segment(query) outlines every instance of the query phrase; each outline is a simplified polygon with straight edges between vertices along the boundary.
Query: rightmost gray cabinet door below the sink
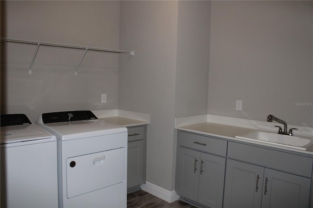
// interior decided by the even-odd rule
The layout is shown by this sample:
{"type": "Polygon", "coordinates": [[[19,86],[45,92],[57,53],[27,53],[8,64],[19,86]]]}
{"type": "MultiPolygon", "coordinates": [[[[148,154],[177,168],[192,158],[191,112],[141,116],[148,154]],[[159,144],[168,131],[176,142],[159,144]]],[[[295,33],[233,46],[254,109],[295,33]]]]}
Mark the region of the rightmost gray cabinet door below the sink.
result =
{"type": "Polygon", "coordinates": [[[308,208],[311,180],[265,168],[262,208],[308,208]]]}

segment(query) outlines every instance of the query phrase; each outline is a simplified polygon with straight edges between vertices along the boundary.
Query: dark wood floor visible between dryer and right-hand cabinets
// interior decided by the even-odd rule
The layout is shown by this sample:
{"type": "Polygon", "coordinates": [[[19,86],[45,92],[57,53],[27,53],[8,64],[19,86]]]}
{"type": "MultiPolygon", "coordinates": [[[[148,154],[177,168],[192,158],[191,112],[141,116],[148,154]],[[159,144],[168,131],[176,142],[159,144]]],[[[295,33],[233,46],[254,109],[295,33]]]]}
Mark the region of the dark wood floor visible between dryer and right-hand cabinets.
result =
{"type": "Polygon", "coordinates": [[[127,194],[127,208],[196,208],[182,201],[175,201],[168,203],[156,196],[138,190],[133,193],[127,194]]]}

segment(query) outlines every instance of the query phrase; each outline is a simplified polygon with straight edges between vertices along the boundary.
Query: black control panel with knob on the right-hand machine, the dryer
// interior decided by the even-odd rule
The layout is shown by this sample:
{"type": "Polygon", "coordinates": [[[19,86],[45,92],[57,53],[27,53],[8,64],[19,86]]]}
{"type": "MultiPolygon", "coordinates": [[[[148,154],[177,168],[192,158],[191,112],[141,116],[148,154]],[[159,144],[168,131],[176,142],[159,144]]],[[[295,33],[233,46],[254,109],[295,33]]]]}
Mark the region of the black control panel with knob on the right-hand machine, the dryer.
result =
{"type": "Polygon", "coordinates": [[[78,110],[43,113],[42,119],[44,124],[50,124],[68,121],[95,120],[98,118],[90,110],[78,110]]]}

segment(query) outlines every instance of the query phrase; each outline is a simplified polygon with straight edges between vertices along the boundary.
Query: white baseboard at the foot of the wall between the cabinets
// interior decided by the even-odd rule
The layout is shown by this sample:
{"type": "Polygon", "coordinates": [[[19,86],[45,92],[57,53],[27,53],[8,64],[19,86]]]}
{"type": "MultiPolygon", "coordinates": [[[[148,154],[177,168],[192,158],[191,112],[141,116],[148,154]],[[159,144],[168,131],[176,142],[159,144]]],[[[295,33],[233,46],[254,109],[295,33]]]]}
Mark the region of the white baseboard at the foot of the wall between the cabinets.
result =
{"type": "Polygon", "coordinates": [[[146,182],[145,184],[142,184],[141,189],[144,191],[147,191],[148,193],[151,193],[152,195],[163,199],[164,201],[167,201],[168,203],[175,202],[179,199],[179,195],[174,191],[166,190],[162,187],[158,187],[154,184],[151,184],[149,182],[146,182]]]}

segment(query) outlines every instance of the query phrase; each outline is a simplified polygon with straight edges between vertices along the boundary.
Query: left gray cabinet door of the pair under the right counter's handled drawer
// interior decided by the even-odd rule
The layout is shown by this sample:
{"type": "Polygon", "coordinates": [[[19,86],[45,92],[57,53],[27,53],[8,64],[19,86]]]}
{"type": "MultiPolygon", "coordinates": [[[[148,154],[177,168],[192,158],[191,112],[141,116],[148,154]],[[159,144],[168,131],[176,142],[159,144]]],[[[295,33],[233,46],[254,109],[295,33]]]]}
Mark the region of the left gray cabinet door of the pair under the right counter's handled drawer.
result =
{"type": "Polygon", "coordinates": [[[198,151],[179,147],[176,192],[195,202],[198,201],[200,155],[198,151]]]}

